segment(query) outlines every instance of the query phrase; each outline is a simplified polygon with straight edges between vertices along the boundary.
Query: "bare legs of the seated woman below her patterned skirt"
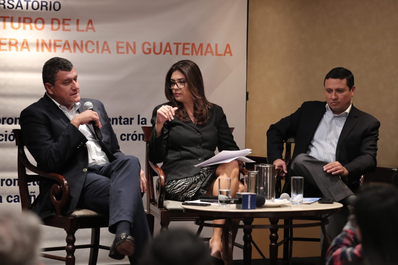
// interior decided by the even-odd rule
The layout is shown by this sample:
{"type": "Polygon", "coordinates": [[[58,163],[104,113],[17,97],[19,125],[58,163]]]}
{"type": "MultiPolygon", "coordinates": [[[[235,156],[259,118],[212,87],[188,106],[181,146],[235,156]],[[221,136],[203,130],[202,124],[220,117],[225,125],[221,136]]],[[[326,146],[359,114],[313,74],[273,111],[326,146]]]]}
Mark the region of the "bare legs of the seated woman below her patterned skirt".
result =
{"type": "MultiPolygon", "coordinates": [[[[220,164],[216,169],[217,179],[213,181],[206,195],[219,195],[219,177],[230,177],[231,178],[231,197],[236,197],[236,192],[244,191],[243,184],[239,181],[239,164],[236,160],[220,164]]],[[[214,224],[224,224],[225,220],[214,220],[214,224]]],[[[234,233],[234,238],[236,237],[236,232],[234,233]]],[[[214,227],[213,236],[209,241],[209,246],[211,249],[211,255],[217,258],[222,258],[224,262],[226,261],[225,255],[222,255],[222,242],[226,243],[226,240],[222,240],[222,228],[214,227]]]]}

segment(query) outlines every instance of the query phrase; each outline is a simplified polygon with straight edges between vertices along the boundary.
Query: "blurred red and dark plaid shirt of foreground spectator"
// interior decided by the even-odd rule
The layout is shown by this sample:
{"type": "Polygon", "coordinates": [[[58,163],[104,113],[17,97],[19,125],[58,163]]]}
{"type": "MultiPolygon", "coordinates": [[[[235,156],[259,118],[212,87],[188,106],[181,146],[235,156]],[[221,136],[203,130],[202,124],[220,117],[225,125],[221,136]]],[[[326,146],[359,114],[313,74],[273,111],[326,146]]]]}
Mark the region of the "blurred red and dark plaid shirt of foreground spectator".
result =
{"type": "Polygon", "coordinates": [[[326,265],[343,265],[362,257],[362,245],[355,235],[351,220],[345,224],[343,231],[332,241],[326,253],[326,265]]]}

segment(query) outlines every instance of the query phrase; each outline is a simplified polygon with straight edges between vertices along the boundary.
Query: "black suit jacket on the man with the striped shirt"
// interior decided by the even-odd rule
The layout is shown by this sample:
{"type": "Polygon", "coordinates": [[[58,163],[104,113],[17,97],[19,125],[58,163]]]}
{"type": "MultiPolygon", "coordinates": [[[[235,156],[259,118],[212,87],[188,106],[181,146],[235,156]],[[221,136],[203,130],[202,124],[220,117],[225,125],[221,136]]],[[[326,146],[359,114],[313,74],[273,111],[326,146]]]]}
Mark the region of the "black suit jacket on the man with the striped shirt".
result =
{"type": "MultiPolygon", "coordinates": [[[[267,131],[267,156],[270,162],[282,158],[283,141],[295,137],[292,159],[306,153],[326,111],[326,101],[306,101],[295,113],[271,125],[267,131]]],[[[351,107],[336,148],[336,160],[349,172],[347,185],[356,189],[359,177],[376,168],[380,122],[354,105],[351,107]]]]}

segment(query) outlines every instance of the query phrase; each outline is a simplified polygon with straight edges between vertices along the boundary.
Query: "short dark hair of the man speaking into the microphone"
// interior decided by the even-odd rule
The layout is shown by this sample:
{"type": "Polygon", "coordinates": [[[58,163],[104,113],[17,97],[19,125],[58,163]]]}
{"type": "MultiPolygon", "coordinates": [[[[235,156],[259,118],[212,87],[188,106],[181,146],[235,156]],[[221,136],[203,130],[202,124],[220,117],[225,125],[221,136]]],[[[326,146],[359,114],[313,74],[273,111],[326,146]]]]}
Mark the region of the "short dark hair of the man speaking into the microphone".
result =
{"type": "Polygon", "coordinates": [[[57,80],[57,73],[59,71],[72,71],[73,64],[69,60],[60,57],[53,57],[49,59],[43,65],[43,84],[46,83],[55,85],[55,81],[57,80]]]}

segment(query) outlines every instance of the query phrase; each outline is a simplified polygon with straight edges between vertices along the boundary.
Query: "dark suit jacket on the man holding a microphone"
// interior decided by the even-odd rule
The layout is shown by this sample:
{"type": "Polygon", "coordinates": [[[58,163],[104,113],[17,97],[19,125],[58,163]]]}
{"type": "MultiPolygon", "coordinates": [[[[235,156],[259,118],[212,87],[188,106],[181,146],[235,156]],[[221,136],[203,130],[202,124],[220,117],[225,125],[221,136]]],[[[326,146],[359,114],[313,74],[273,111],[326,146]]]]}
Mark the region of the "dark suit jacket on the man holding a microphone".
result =
{"type": "MultiPolygon", "coordinates": [[[[116,158],[124,156],[119,150],[116,135],[101,101],[82,98],[80,113],[84,111],[83,105],[86,101],[93,103],[93,110],[100,117],[102,142],[116,158]]],[[[70,214],[76,208],[87,174],[87,138],[70,123],[68,117],[47,94],[21,112],[20,125],[25,145],[36,160],[37,167],[61,174],[68,181],[71,200],[64,214],[70,214]]],[[[94,134],[92,126],[88,127],[94,134]]],[[[33,203],[33,210],[41,218],[55,214],[55,208],[50,201],[53,184],[49,179],[40,180],[40,194],[33,203]]]]}

